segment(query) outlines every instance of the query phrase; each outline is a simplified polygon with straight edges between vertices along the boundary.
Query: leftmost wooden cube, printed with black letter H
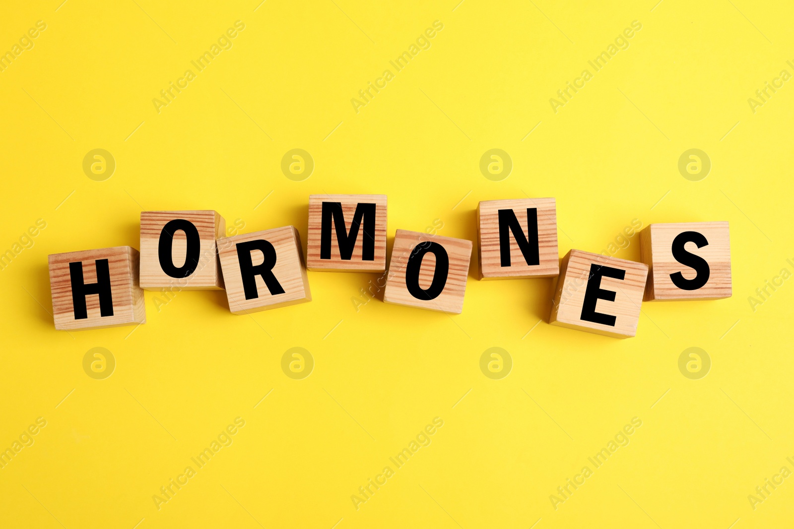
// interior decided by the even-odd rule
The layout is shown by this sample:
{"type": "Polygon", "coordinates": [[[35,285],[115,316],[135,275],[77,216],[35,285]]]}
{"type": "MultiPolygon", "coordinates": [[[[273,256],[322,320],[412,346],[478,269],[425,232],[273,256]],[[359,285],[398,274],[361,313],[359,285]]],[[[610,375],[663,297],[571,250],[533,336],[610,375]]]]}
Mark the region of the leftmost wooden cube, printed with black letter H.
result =
{"type": "Polygon", "coordinates": [[[55,328],[75,330],[145,324],[135,248],[70,251],[48,257],[55,328]]]}

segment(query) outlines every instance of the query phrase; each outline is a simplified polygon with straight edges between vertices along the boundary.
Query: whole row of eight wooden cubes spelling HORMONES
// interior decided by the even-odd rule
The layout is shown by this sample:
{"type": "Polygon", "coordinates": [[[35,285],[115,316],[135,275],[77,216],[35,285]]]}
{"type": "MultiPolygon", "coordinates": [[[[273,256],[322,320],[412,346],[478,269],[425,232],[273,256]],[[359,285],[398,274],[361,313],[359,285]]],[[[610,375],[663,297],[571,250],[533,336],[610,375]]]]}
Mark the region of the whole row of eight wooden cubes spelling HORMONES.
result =
{"type": "MultiPolygon", "coordinates": [[[[549,323],[636,333],[643,299],[730,297],[727,222],[651,224],[641,261],[572,250],[560,261],[553,198],[481,201],[481,279],[559,276],[549,323]],[[689,246],[687,246],[689,245],[689,246]]],[[[145,323],[141,289],[225,289],[245,314],[311,300],[308,270],[385,272],[385,195],[311,195],[306,261],[292,226],[225,237],[215,211],[141,213],[132,247],[49,256],[56,328],[145,323]]],[[[460,313],[472,242],[397,230],[384,301],[460,313]]]]}

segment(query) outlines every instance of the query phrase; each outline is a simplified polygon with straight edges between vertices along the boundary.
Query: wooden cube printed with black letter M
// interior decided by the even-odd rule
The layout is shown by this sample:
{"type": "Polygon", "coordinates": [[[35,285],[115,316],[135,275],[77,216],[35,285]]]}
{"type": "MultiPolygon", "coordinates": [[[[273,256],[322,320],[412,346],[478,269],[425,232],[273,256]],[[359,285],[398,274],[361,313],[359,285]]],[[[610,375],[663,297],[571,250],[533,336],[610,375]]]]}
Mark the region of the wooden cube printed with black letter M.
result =
{"type": "Polygon", "coordinates": [[[309,195],[309,270],[384,272],[386,195],[309,195]]]}

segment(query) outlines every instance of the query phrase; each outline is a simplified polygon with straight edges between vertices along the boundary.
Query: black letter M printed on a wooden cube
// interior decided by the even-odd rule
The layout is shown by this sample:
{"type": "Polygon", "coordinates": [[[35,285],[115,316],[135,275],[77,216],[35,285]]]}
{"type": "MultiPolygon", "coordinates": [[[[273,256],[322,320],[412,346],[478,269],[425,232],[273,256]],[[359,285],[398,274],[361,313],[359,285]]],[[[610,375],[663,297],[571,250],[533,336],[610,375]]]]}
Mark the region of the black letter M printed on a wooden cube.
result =
{"type": "Polygon", "coordinates": [[[350,232],[345,229],[345,213],[342,212],[341,202],[323,202],[322,217],[320,219],[320,259],[331,259],[331,224],[336,228],[339,257],[349,261],[353,257],[356,247],[358,231],[364,223],[364,235],[361,241],[361,260],[375,260],[375,203],[360,202],[353,213],[353,222],[350,223],[350,232]]]}

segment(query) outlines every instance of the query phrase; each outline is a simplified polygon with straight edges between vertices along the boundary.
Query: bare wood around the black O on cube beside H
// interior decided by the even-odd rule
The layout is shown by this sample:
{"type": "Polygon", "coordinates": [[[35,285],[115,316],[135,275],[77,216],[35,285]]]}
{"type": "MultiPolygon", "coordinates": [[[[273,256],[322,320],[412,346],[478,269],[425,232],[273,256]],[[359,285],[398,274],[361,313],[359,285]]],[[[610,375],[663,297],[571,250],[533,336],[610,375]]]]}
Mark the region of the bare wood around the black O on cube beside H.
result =
{"type": "MultiPolygon", "coordinates": [[[[217,290],[223,288],[223,275],[215,241],[225,236],[226,222],[214,210],[141,212],[141,288],[147,290],[217,290]],[[195,225],[201,250],[198,266],[187,278],[172,278],[160,266],[160,233],[171,220],[184,219],[195,225]]],[[[174,233],[173,263],[182,266],[187,253],[185,232],[174,233]]]]}

